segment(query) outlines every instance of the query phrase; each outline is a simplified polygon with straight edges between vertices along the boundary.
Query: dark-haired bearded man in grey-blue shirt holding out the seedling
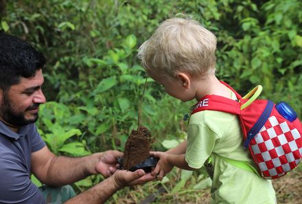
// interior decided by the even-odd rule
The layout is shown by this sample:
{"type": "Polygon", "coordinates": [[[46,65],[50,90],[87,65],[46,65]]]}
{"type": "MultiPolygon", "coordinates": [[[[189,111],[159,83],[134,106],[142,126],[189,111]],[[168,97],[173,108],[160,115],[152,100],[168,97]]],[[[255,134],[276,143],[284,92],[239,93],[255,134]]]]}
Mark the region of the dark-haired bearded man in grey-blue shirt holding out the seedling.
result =
{"type": "Polygon", "coordinates": [[[117,170],[121,152],[109,150],[86,157],[57,157],[45,145],[34,122],[45,103],[43,54],[20,38],[0,34],[0,203],[45,203],[30,181],[32,172],[42,183],[62,186],[91,174],[108,179],[67,203],[104,203],[126,185],[152,181],[143,170],[117,170]]]}

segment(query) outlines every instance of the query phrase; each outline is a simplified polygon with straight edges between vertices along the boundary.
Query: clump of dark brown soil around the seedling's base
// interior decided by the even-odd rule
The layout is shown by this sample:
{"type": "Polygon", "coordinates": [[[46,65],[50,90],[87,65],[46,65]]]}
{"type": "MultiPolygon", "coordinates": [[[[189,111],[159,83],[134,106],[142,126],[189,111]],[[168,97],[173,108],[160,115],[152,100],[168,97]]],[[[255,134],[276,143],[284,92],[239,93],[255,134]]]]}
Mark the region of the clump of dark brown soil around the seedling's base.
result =
{"type": "Polygon", "coordinates": [[[148,129],[143,126],[140,126],[138,131],[132,131],[124,150],[124,168],[126,170],[148,159],[150,136],[148,129]]]}

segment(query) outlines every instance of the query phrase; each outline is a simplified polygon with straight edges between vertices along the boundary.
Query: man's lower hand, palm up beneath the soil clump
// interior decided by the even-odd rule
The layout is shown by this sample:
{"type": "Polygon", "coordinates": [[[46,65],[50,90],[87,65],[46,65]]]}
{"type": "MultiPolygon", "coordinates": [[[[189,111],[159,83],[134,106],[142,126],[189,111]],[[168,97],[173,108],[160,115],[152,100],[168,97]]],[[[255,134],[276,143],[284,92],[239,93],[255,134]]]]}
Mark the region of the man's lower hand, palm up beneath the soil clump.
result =
{"type": "Polygon", "coordinates": [[[115,187],[123,188],[124,186],[143,184],[148,181],[153,181],[156,179],[156,175],[146,174],[143,170],[139,169],[135,172],[130,172],[128,170],[117,170],[112,177],[115,187]]]}

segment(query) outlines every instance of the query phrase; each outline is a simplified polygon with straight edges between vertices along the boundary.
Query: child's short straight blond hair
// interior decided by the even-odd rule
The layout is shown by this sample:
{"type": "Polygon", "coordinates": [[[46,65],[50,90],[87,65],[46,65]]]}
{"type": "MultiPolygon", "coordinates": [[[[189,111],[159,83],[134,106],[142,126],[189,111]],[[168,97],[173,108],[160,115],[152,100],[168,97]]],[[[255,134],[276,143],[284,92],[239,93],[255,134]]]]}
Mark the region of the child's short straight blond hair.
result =
{"type": "Polygon", "coordinates": [[[216,36],[193,19],[167,19],[139,47],[138,57],[147,73],[175,78],[185,72],[192,78],[215,73],[216,36]]]}

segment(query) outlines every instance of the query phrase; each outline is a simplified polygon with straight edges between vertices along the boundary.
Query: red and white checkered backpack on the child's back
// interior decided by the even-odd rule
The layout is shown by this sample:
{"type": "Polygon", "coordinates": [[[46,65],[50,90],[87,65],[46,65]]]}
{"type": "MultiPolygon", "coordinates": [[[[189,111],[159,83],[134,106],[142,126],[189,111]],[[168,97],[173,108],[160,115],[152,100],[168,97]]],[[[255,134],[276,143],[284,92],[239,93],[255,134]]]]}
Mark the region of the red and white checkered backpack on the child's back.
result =
{"type": "Polygon", "coordinates": [[[297,113],[285,102],[273,104],[270,100],[256,99],[262,86],[241,97],[228,84],[222,84],[235,93],[238,101],[206,95],[191,114],[212,110],[238,115],[244,148],[251,152],[258,174],[264,179],[277,179],[296,168],[302,159],[302,125],[297,113]]]}

